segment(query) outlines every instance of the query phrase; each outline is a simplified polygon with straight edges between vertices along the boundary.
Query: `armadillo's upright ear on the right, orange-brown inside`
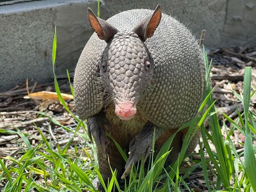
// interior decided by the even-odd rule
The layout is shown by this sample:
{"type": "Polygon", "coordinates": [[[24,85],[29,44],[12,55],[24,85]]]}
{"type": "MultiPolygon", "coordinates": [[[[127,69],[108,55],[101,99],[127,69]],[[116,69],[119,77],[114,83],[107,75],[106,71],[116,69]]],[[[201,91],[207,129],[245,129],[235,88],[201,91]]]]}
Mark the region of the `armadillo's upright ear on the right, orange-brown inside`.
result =
{"type": "Polygon", "coordinates": [[[148,37],[151,37],[154,34],[161,18],[162,11],[160,5],[157,5],[152,16],[148,16],[146,19],[142,20],[142,22],[140,22],[138,26],[133,29],[133,32],[141,37],[143,41],[146,41],[148,37]]]}

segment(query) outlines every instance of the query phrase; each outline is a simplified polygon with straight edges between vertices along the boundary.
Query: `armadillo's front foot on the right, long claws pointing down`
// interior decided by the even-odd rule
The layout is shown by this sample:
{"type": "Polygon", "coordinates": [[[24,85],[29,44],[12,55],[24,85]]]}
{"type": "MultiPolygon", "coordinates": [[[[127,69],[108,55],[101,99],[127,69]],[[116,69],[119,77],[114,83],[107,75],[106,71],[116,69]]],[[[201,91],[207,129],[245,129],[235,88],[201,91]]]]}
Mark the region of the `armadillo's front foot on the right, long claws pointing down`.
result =
{"type": "Polygon", "coordinates": [[[125,172],[122,175],[122,179],[129,175],[131,166],[139,161],[144,156],[146,161],[148,155],[152,149],[152,139],[154,133],[154,126],[146,124],[142,132],[135,136],[130,143],[130,155],[125,165],[125,172]]]}

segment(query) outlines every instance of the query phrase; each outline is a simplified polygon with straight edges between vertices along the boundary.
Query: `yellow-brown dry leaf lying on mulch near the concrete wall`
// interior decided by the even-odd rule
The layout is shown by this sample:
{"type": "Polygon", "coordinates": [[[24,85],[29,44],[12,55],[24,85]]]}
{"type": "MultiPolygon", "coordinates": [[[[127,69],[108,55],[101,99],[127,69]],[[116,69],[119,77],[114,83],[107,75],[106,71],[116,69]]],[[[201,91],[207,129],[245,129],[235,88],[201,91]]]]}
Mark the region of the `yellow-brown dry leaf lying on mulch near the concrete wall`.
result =
{"type": "MultiPolygon", "coordinates": [[[[61,93],[64,100],[73,99],[72,95],[61,93]]],[[[30,93],[24,96],[24,99],[36,99],[36,100],[59,100],[56,92],[51,91],[39,91],[36,93],[30,93]]]]}

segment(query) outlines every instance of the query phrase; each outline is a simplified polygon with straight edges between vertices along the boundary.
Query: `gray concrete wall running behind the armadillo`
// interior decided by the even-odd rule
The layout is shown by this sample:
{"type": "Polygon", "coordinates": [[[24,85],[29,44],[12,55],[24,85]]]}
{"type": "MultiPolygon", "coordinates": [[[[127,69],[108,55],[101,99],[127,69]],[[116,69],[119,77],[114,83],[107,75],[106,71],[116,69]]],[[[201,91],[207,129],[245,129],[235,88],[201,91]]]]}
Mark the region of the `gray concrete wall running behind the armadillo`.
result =
{"type": "MultiPolygon", "coordinates": [[[[207,30],[208,48],[240,45],[256,39],[256,0],[105,0],[101,18],[117,12],[159,3],[163,12],[179,18],[200,37],[207,30]],[[238,6],[238,7],[237,7],[238,6]]],[[[52,81],[51,47],[57,26],[57,74],[70,72],[92,35],[86,9],[97,10],[97,1],[44,0],[0,6],[0,91],[26,78],[52,81]]]]}

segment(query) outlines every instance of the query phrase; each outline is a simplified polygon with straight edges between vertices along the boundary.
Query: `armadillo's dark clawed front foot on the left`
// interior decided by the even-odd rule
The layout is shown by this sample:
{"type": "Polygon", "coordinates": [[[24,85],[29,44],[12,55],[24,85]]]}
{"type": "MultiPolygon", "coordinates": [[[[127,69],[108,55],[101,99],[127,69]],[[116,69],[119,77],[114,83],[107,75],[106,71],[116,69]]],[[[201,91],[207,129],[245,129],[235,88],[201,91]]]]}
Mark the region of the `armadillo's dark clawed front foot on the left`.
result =
{"type": "MultiPolygon", "coordinates": [[[[105,126],[109,126],[108,120],[105,118],[105,113],[101,112],[87,120],[87,131],[92,141],[92,136],[96,143],[98,154],[102,158],[106,158],[106,131],[105,126]]],[[[93,142],[93,141],[92,141],[93,142]]]]}

